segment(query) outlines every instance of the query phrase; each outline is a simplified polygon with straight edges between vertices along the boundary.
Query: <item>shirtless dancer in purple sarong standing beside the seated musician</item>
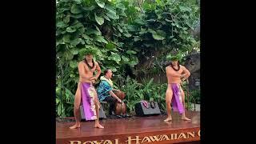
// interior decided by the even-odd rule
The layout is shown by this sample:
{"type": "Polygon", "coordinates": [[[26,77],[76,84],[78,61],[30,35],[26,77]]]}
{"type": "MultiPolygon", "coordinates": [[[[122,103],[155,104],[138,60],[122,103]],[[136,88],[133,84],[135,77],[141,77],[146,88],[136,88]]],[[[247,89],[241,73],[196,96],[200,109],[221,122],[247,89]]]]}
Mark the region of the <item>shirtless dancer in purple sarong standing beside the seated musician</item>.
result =
{"type": "Polygon", "coordinates": [[[74,97],[74,126],[70,126],[70,129],[80,127],[80,104],[82,102],[86,119],[95,119],[94,127],[104,128],[99,124],[99,106],[98,96],[94,86],[92,84],[98,79],[101,74],[101,68],[98,66],[98,62],[94,62],[93,54],[96,54],[94,50],[87,50],[85,52],[85,60],[78,63],[79,82],[78,89],[74,97]],[[97,70],[97,74],[94,76],[94,71],[97,70]]]}

